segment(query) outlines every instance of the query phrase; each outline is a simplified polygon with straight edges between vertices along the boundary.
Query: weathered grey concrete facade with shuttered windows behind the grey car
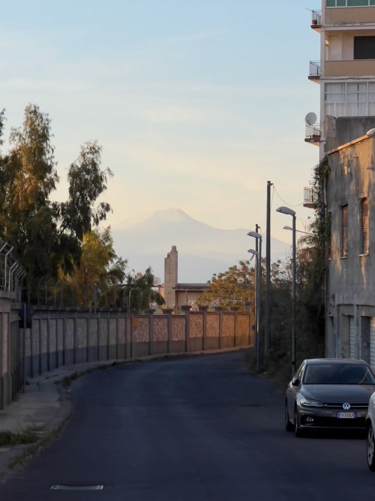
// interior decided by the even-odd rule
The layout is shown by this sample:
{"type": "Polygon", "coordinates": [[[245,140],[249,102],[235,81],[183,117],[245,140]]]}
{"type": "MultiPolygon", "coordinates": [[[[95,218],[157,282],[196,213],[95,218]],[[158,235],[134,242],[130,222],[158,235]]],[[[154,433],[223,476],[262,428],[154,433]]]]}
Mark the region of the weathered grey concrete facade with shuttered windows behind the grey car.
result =
{"type": "Polygon", "coordinates": [[[326,355],[375,368],[375,139],[360,137],[327,157],[326,355]]]}

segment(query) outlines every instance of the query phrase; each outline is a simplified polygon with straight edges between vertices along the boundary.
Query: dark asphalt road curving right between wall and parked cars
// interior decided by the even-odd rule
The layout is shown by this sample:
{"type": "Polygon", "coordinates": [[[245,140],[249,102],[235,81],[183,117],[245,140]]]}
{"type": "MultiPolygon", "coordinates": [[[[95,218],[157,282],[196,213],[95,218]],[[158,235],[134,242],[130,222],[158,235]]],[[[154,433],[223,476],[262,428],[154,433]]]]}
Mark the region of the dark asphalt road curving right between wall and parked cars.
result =
{"type": "Polygon", "coordinates": [[[373,497],[365,439],[285,432],[283,395],[248,374],[241,353],[98,371],[72,398],[60,437],[0,484],[1,501],[373,497]]]}

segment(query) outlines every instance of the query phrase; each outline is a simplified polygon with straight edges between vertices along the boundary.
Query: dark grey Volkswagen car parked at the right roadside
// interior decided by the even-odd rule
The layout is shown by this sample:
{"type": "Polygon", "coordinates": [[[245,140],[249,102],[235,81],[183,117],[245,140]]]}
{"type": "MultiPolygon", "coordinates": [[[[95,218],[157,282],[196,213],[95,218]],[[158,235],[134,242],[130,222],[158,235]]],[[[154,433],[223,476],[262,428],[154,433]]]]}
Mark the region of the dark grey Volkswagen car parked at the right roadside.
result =
{"type": "Polygon", "coordinates": [[[309,430],[364,430],[374,391],[375,375],[363,360],[303,360],[286,390],[285,429],[297,437],[309,430]]]}

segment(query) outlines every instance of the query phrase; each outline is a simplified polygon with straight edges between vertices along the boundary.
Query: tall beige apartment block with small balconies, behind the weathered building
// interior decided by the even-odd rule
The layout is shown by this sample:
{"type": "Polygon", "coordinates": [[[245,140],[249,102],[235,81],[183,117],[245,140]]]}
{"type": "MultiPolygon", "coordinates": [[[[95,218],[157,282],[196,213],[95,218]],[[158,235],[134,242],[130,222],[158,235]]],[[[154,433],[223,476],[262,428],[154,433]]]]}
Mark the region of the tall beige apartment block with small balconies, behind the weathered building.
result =
{"type": "Polygon", "coordinates": [[[322,0],[311,28],[320,35],[308,75],[320,85],[320,119],[306,124],[305,141],[321,159],[375,126],[375,0],[322,0]]]}

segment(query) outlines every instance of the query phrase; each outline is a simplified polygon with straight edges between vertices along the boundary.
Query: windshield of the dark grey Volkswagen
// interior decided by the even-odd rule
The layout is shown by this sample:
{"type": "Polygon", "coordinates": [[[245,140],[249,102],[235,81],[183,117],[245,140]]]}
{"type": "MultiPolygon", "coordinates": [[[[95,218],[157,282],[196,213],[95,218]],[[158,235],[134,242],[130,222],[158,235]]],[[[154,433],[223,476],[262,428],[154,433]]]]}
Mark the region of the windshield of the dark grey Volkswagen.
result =
{"type": "Polygon", "coordinates": [[[366,365],[311,364],[306,366],[303,384],[375,384],[366,365]]]}

